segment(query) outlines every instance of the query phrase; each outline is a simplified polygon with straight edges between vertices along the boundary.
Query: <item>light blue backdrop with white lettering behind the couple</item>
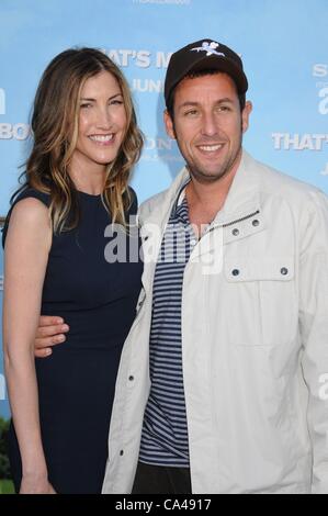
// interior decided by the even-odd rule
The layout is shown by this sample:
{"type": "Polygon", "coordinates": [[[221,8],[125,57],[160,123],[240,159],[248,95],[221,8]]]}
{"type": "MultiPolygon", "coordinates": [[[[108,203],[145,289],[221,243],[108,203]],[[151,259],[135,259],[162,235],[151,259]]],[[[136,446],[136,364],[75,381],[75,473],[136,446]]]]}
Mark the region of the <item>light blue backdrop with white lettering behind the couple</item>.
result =
{"type": "MultiPolygon", "coordinates": [[[[327,21],[327,0],[1,0],[0,216],[29,153],[41,74],[56,54],[82,45],[108,53],[134,92],[146,135],[132,181],[139,201],[167,188],[183,165],[162,125],[170,54],[207,36],[242,55],[253,102],[245,147],[328,192],[327,21]]],[[[0,359],[0,415],[8,416],[0,359]]]]}

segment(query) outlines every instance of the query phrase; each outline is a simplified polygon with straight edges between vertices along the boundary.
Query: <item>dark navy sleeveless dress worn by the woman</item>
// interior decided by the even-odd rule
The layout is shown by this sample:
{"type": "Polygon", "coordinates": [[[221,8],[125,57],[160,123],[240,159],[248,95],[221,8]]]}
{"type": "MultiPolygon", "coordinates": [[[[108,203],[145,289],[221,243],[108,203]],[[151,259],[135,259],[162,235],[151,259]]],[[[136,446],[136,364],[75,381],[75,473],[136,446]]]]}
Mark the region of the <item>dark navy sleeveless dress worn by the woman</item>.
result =
{"type": "MultiPolygon", "coordinates": [[[[49,195],[32,189],[15,203],[31,197],[49,204],[49,195]]],[[[127,217],[137,210],[134,192],[133,198],[127,217]]],[[[135,253],[138,236],[124,237],[127,253],[134,246],[133,258],[109,262],[105,247],[116,234],[104,236],[110,217],[101,197],[78,192],[78,227],[53,236],[42,298],[42,314],[64,317],[70,329],[53,355],[36,359],[48,476],[63,494],[101,492],[120,356],[135,317],[143,272],[135,253]]],[[[9,218],[10,213],[3,243],[9,218]]],[[[13,427],[10,461],[18,491],[22,473],[13,427]]]]}

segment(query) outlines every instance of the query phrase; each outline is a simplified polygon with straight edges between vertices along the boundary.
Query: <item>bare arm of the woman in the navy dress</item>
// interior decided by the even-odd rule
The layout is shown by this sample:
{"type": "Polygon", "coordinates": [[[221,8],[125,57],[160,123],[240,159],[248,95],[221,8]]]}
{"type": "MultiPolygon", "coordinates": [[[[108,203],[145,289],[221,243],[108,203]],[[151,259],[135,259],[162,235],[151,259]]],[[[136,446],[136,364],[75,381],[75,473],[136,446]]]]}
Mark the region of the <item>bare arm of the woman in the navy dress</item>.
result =
{"type": "Polygon", "coordinates": [[[13,209],[4,247],[3,347],[10,405],[22,457],[22,493],[52,486],[42,446],[34,340],[52,225],[47,207],[24,199],[13,209]]]}

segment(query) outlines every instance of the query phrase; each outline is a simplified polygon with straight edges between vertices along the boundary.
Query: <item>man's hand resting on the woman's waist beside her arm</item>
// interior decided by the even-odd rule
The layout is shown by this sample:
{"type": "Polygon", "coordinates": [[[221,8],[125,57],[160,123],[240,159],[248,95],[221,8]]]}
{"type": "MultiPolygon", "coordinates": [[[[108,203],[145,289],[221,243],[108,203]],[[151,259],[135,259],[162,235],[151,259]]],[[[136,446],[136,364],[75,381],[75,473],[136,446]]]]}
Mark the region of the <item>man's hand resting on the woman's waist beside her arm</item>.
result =
{"type": "Polygon", "coordinates": [[[52,355],[52,347],[66,340],[64,334],[69,332],[69,326],[61,317],[42,315],[35,336],[34,355],[44,358],[52,355]]]}

